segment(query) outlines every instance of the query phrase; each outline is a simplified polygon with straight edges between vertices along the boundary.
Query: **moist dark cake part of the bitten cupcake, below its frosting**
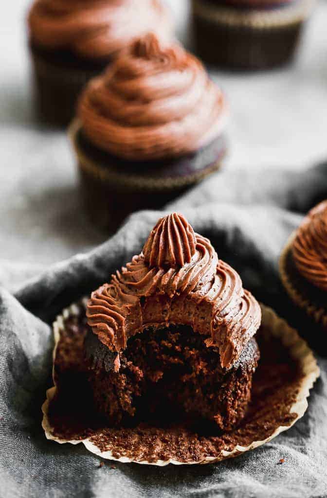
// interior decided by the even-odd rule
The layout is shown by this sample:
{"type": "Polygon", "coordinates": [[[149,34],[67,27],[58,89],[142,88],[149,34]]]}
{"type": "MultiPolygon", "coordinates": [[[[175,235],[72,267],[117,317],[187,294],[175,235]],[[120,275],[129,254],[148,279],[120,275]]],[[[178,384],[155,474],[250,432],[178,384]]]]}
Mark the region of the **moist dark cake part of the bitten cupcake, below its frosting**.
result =
{"type": "Polygon", "coordinates": [[[118,360],[89,330],[85,352],[96,410],[111,426],[186,419],[191,426],[205,420],[210,430],[232,429],[250,400],[258,346],[252,339],[227,370],[205,339],[186,326],[149,328],[129,339],[118,360]]]}

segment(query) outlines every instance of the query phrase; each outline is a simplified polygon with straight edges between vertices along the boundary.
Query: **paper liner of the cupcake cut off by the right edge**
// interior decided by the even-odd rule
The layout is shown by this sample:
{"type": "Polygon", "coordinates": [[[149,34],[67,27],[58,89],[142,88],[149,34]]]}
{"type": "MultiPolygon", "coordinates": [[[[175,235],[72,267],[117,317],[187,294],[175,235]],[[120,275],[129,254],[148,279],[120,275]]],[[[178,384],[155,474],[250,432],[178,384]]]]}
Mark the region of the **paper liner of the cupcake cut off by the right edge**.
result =
{"type": "MultiPolygon", "coordinates": [[[[292,246],[295,237],[296,232],[294,232],[287,241],[279,259],[279,272],[282,283],[294,304],[327,331],[327,307],[316,304],[314,299],[310,296],[312,284],[308,282],[308,290],[305,292],[303,289],[299,288],[299,285],[297,285],[297,282],[294,281],[294,278],[290,274],[289,261],[290,258],[292,258],[292,246]]],[[[300,275],[299,278],[303,279],[300,275]]]]}

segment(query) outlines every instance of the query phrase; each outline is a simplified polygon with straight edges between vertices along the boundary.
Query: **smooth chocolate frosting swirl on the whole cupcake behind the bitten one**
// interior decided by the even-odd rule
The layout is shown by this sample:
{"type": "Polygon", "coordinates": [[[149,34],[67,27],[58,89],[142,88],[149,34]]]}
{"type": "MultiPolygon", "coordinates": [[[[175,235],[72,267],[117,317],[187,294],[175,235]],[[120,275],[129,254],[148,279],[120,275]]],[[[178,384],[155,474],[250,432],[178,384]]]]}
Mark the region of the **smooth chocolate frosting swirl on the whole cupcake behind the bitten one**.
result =
{"type": "Polygon", "coordinates": [[[88,84],[78,115],[93,144],[141,161],[211,142],[223,128],[226,103],[196,57],[151,33],[88,84]]]}

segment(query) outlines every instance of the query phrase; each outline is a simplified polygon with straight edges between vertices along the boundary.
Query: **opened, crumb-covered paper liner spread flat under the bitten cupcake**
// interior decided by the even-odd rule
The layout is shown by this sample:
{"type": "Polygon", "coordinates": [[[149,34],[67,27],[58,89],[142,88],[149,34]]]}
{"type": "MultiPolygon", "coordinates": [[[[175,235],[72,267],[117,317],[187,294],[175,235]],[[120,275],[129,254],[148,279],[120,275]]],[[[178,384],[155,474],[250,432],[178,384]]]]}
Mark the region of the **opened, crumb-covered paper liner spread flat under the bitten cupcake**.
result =
{"type": "Polygon", "coordinates": [[[180,423],[164,429],[146,424],[110,428],[95,421],[83,365],[85,301],[73,304],[53,325],[54,386],[42,406],[46,437],[58,443],[83,443],[103,459],[158,466],[219,462],[265,444],[304,415],[319,368],[296,330],[270,308],[262,306],[262,314],[257,334],[261,360],[248,413],[234,431],[208,434],[191,432],[180,423]]]}

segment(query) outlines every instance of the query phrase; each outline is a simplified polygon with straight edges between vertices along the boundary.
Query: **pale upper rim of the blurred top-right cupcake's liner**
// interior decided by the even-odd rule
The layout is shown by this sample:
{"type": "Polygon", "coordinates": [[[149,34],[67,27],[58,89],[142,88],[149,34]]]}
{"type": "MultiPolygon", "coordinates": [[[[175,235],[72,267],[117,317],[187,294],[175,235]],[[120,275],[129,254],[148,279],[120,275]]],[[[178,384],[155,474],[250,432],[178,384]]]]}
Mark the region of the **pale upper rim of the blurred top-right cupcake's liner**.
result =
{"type": "Polygon", "coordinates": [[[316,0],[298,0],[273,9],[249,8],[238,10],[213,5],[203,0],[192,0],[194,15],[211,23],[237,28],[273,29],[298,24],[311,13],[316,0]]]}

